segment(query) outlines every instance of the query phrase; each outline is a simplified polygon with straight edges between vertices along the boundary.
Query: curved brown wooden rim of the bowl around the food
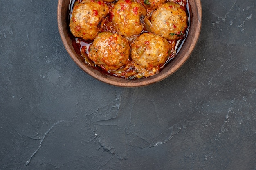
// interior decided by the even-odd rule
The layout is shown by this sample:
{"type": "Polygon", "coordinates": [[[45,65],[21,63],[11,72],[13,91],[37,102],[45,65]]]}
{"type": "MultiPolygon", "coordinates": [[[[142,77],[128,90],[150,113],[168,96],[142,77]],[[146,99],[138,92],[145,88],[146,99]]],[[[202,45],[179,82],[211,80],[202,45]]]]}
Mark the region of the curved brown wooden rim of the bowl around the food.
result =
{"type": "MultiPolygon", "coordinates": [[[[154,76],[150,76],[147,78],[141,78],[141,79],[135,79],[135,80],[128,80],[128,79],[124,79],[124,78],[120,78],[120,77],[102,74],[99,70],[92,68],[91,66],[87,65],[85,62],[82,63],[81,60],[79,60],[79,58],[78,58],[78,54],[74,51],[74,49],[72,49],[70,47],[70,46],[72,46],[71,41],[67,41],[68,36],[65,36],[65,34],[67,34],[68,31],[65,30],[63,27],[63,25],[67,25],[67,18],[66,18],[67,14],[66,14],[66,16],[62,15],[63,11],[65,11],[65,7],[63,7],[63,5],[62,5],[64,1],[65,0],[58,0],[57,23],[58,23],[59,34],[60,34],[61,40],[63,42],[63,45],[64,45],[65,49],[67,50],[67,53],[70,55],[70,57],[76,63],[76,65],[78,65],[79,68],[81,68],[84,72],[86,72],[93,78],[95,78],[101,82],[107,83],[109,85],[114,85],[117,87],[142,87],[142,86],[151,85],[153,83],[162,81],[163,79],[167,78],[168,76],[171,76],[171,74],[176,72],[186,62],[186,60],[189,59],[189,57],[190,57],[191,53],[193,52],[193,49],[199,39],[201,25],[202,25],[202,5],[201,5],[200,0],[195,0],[194,2],[196,3],[195,6],[197,7],[197,9],[196,9],[197,17],[190,19],[190,23],[193,22],[194,24],[196,24],[195,25],[196,29],[195,29],[195,32],[193,33],[192,44],[189,45],[189,48],[187,49],[187,51],[186,51],[185,55],[182,57],[182,59],[179,60],[176,65],[173,65],[173,67],[171,69],[160,74],[161,71],[164,70],[164,68],[163,68],[158,74],[156,74],[154,76]]],[[[68,1],[70,1],[70,0],[68,0],[68,1]]],[[[188,3],[189,3],[189,1],[190,0],[187,0],[188,3]]],[[[70,6],[70,3],[69,3],[69,6],[70,6]]],[[[190,12],[192,12],[192,10],[190,10],[190,12]]],[[[193,15],[193,13],[191,13],[190,15],[193,15]]],[[[66,27],[66,28],[68,28],[68,27],[66,27]]],[[[185,42],[185,44],[186,44],[186,42],[185,42]]],[[[179,55],[179,54],[177,54],[177,55],[179,55]]],[[[168,64],[170,64],[170,63],[168,63],[168,64]]],[[[166,66],[165,66],[165,68],[166,68],[166,66]]]]}

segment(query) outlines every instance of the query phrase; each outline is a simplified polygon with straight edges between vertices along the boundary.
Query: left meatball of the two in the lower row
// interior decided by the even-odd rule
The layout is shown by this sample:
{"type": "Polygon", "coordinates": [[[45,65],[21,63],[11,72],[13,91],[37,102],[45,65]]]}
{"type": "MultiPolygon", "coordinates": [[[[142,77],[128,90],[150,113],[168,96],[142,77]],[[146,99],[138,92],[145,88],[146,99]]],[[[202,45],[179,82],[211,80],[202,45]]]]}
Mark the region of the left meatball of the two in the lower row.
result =
{"type": "Polygon", "coordinates": [[[104,70],[117,70],[128,63],[130,46],[119,34],[102,32],[89,49],[89,58],[104,70]]]}

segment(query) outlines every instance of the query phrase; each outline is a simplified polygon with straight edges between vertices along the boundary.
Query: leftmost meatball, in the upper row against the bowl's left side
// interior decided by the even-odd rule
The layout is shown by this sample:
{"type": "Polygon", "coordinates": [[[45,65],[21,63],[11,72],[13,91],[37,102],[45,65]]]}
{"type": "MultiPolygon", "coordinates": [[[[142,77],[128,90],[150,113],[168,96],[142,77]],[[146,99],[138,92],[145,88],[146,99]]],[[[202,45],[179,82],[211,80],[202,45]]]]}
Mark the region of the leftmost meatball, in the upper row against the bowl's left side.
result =
{"type": "Polygon", "coordinates": [[[75,37],[93,40],[102,27],[108,6],[102,0],[83,0],[73,8],[70,31],[75,37]]]}

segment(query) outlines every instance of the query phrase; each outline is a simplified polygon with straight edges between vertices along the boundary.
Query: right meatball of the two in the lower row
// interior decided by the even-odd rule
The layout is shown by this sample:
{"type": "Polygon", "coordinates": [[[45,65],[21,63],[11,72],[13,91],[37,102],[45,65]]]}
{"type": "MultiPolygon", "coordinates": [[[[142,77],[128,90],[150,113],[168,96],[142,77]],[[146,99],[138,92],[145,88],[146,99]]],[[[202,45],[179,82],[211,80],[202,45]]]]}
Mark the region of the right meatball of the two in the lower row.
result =
{"type": "Polygon", "coordinates": [[[136,64],[150,70],[164,65],[171,50],[172,46],[165,38],[154,33],[143,33],[131,44],[131,58],[136,64]]]}

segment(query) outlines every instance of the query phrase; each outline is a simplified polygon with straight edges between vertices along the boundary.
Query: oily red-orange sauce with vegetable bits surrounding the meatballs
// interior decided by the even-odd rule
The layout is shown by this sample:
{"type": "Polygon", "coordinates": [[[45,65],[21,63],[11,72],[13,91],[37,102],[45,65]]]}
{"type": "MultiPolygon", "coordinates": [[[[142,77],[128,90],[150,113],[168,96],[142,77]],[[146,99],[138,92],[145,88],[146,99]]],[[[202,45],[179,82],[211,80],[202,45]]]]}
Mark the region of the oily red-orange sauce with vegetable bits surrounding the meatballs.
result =
{"type": "MultiPolygon", "coordinates": [[[[129,0],[127,0],[127,1],[128,1],[128,3],[130,2],[129,0]]],[[[109,10],[110,12],[102,20],[103,26],[101,27],[101,30],[99,32],[108,31],[113,34],[117,33],[117,29],[115,28],[115,26],[112,23],[113,13],[111,12],[112,8],[114,7],[116,2],[117,1],[106,3],[106,5],[108,5],[108,8],[110,9],[109,10]]],[[[184,33],[182,33],[182,36],[180,36],[181,34],[179,35],[180,38],[168,41],[168,43],[171,45],[171,50],[169,50],[168,57],[167,57],[166,61],[162,64],[153,65],[150,68],[144,68],[141,65],[138,65],[137,63],[135,63],[132,60],[132,58],[129,57],[128,63],[126,65],[122,66],[121,68],[119,68],[117,70],[106,70],[101,65],[95,64],[95,62],[89,58],[90,47],[92,46],[93,40],[84,40],[82,38],[74,37],[72,35],[72,33],[70,33],[70,37],[72,39],[72,45],[73,45],[74,49],[76,50],[76,53],[81,55],[84,58],[85,63],[87,63],[88,65],[90,65],[91,67],[93,67],[95,69],[101,70],[101,72],[104,72],[106,74],[110,74],[112,76],[117,76],[117,77],[125,78],[125,79],[137,79],[137,78],[146,78],[149,76],[153,76],[153,75],[157,74],[158,72],[160,72],[160,70],[162,70],[162,68],[164,68],[164,66],[166,66],[166,64],[168,64],[169,62],[171,62],[171,60],[173,58],[175,58],[176,54],[182,48],[184,41],[186,41],[186,37],[189,32],[189,21],[190,21],[189,3],[187,3],[186,0],[171,0],[171,2],[180,4],[181,8],[186,12],[186,15],[188,17],[187,28],[184,31],[184,33]]],[[[69,19],[71,19],[71,17],[72,17],[73,7],[79,3],[81,3],[81,0],[70,0],[69,19]]],[[[144,29],[141,31],[141,33],[139,35],[126,37],[126,39],[128,39],[129,44],[132,44],[132,42],[140,35],[142,35],[144,33],[151,32],[151,30],[148,29],[147,26],[150,27],[151,14],[153,11],[155,11],[155,10],[147,9],[147,15],[145,16],[145,21],[144,21],[144,22],[146,22],[146,26],[144,27],[144,29]],[[149,24],[147,23],[148,21],[149,21],[149,24]]],[[[177,35],[177,34],[175,34],[175,35],[177,35]]]]}

